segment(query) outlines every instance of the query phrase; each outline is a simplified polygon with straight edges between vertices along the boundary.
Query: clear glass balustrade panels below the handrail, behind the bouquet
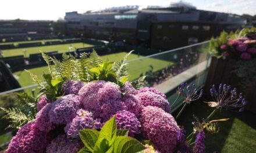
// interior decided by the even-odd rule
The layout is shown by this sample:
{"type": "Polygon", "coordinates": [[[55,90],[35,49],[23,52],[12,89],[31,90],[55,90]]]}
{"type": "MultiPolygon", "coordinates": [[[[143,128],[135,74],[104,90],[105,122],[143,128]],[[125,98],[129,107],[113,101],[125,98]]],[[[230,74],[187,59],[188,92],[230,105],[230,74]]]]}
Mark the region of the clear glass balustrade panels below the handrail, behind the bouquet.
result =
{"type": "MultiPolygon", "coordinates": [[[[207,54],[209,41],[184,46],[166,52],[138,57],[129,61],[129,74],[131,80],[147,75],[145,86],[154,86],[168,96],[170,104],[176,99],[176,89],[183,82],[193,82],[197,88],[204,86],[211,57],[207,54]]],[[[29,78],[28,78],[29,79],[29,78]]],[[[37,85],[9,90],[0,93],[0,107],[12,107],[17,98],[15,92],[37,93],[37,85]]],[[[172,112],[182,104],[177,101],[172,112]]],[[[0,117],[3,112],[0,110],[0,117]]],[[[6,146],[11,138],[12,130],[5,130],[8,121],[0,122],[0,148],[6,146]]]]}

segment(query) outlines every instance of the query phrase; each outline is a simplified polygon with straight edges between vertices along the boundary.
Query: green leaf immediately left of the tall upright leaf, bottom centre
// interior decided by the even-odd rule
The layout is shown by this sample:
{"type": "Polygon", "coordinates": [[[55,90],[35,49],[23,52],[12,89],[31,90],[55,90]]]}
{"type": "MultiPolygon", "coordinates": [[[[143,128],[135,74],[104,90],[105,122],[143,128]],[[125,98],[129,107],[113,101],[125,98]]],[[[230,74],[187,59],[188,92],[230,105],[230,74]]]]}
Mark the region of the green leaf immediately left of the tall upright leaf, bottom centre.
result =
{"type": "Polygon", "coordinates": [[[86,147],[88,148],[88,150],[93,152],[93,148],[95,143],[97,142],[99,132],[93,129],[83,129],[80,130],[79,136],[83,141],[84,145],[86,145],[86,147]]]}

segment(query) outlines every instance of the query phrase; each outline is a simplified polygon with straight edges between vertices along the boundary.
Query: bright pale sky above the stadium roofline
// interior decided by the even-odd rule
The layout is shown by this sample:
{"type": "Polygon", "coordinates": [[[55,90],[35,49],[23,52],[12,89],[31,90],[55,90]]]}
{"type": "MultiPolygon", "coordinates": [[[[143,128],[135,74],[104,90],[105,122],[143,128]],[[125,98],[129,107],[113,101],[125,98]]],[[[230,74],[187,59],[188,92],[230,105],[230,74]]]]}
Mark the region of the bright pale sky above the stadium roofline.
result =
{"type": "MultiPolygon", "coordinates": [[[[0,0],[0,20],[58,20],[65,12],[98,10],[112,6],[169,6],[177,0],[0,0]]],[[[235,14],[256,14],[256,0],[186,0],[197,9],[235,14]]]]}

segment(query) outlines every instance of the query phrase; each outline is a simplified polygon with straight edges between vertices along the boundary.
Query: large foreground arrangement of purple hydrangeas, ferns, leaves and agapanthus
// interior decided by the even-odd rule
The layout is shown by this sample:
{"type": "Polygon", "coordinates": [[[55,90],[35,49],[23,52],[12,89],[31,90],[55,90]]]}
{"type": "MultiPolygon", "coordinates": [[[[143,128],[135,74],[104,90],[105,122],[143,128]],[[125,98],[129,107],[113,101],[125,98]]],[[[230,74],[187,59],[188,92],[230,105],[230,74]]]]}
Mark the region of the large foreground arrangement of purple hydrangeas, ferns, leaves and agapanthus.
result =
{"type": "MultiPolygon", "coordinates": [[[[144,77],[128,81],[127,56],[115,63],[103,63],[96,52],[82,54],[80,59],[63,54],[63,61],[44,53],[42,56],[49,67],[49,74],[43,75],[46,85],[31,74],[40,89],[38,96],[23,93],[16,108],[3,109],[5,117],[12,119],[11,127],[19,129],[7,153],[201,153],[205,152],[205,132],[218,132],[216,122],[227,120],[209,121],[214,112],[243,111],[246,105],[236,89],[220,85],[216,90],[212,86],[215,101],[207,104],[216,109],[202,122],[194,116],[194,130],[186,138],[184,128],[170,114],[165,94],[154,88],[140,88],[144,77]]],[[[173,104],[184,100],[180,114],[187,104],[202,97],[202,90],[184,83],[177,94],[173,104]]]]}

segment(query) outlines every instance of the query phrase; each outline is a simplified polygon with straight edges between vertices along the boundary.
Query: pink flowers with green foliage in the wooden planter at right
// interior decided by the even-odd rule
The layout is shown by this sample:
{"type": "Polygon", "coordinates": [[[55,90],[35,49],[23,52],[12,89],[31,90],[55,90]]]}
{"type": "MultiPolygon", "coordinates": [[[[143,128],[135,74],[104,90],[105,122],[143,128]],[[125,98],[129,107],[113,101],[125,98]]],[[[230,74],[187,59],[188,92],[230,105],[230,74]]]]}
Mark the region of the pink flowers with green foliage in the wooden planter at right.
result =
{"type": "Polygon", "coordinates": [[[212,38],[209,53],[215,57],[250,60],[256,57],[256,28],[244,28],[241,31],[221,33],[212,38]]]}

